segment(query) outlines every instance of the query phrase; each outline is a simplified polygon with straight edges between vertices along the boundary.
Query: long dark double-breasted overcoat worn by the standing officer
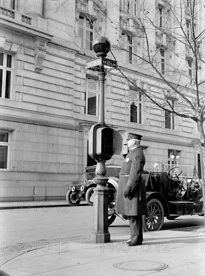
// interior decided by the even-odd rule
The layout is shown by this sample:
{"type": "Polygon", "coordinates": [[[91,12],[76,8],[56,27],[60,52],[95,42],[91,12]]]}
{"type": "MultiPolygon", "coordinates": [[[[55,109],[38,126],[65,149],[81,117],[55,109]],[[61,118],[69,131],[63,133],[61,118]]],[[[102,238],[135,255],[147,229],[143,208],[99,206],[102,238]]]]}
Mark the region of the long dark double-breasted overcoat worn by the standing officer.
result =
{"type": "Polygon", "coordinates": [[[116,214],[127,216],[146,214],[146,191],[144,180],[141,177],[145,157],[143,150],[137,147],[127,154],[119,174],[119,183],[116,193],[116,214]],[[132,199],[124,197],[124,188],[132,190],[132,199]]]}

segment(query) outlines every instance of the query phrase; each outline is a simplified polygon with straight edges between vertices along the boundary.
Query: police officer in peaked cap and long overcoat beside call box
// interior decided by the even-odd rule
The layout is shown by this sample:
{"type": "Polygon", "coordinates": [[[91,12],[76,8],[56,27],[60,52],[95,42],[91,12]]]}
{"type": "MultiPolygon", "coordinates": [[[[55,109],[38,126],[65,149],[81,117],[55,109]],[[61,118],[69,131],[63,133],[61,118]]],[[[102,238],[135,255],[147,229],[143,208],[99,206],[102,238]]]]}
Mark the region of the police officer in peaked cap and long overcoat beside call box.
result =
{"type": "Polygon", "coordinates": [[[128,246],[141,245],[142,215],[146,214],[146,191],[142,178],[145,157],[140,147],[141,135],[129,132],[128,154],[122,164],[116,194],[115,212],[129,219],[130,239],[128,246]]]}

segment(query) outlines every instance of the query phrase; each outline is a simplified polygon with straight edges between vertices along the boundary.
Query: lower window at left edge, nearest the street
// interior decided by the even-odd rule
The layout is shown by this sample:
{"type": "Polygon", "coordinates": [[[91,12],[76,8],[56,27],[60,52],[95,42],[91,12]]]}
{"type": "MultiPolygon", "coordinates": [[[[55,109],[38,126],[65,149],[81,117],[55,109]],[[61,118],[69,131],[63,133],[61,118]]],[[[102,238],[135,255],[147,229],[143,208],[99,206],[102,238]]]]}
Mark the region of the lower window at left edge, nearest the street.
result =
{"type": "Polygon", "coordinates": [[[6,169],[8,164],[8,132],[0,132],[0,169],[6,169]]]}

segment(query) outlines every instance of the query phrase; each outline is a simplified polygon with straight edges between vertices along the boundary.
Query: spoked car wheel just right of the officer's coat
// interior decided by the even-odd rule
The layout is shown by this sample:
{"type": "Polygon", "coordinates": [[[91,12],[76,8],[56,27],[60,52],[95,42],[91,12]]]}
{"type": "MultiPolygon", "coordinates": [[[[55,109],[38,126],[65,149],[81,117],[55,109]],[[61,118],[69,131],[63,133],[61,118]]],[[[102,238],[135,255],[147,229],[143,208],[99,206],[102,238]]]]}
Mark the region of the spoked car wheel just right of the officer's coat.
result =
{"type": "Polygon", "coordinates": [[[163,225],[164,210],[161,202],[152,198],[147,202],[147,214],[142,216],[143,230],[145,232],[160,230],[163,225]]]}

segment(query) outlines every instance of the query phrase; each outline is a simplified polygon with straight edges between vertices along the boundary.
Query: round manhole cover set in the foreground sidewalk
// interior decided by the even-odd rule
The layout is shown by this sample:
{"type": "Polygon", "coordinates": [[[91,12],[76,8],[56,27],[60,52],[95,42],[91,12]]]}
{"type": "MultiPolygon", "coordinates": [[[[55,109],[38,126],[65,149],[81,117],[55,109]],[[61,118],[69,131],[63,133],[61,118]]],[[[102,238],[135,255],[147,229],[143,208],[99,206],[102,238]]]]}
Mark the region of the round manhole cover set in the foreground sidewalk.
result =
{"type": "Polygon", "coordinates": [[[132,260],[132,261],[123,261],[114,263],[113,267],[124,270],[162,270],[165,269],[168,265],[163,262],[158,261],[146,261],[146,260],[132,260]]]}

